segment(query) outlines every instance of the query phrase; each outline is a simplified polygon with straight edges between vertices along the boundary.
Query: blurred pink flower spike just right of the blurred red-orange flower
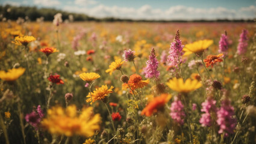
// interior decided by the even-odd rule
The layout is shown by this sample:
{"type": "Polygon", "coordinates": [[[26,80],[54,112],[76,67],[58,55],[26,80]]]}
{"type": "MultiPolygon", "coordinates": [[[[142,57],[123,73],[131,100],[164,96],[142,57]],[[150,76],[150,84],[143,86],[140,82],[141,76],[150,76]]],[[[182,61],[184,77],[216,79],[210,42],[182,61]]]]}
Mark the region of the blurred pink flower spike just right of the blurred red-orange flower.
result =
{"type": "Polygon", "coordinates": [[[175,122],[178,122],[178,124],[184,124],[186,114],[184,112],[184,106],[180,100],[175,100],[172,102],[170,106],[170,116],[175,122]]]}

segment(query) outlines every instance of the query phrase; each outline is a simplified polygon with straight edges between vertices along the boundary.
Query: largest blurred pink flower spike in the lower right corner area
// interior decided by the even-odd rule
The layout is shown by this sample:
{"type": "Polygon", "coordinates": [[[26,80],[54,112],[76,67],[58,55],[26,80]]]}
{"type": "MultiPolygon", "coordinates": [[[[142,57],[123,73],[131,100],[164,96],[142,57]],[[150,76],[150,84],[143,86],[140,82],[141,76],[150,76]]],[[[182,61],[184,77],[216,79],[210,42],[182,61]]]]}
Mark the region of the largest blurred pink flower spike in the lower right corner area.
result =
{"type": "Polygon", "coordinates": [[[220,126],[218,133],[225,133],[224,137],[228,134],[234,133],[236,129],[236,118],[234,116],[234,107],[231,106],[231,101],[227,98],[222,101],[222,106],[217,111],[217,124],[220,126]]]}

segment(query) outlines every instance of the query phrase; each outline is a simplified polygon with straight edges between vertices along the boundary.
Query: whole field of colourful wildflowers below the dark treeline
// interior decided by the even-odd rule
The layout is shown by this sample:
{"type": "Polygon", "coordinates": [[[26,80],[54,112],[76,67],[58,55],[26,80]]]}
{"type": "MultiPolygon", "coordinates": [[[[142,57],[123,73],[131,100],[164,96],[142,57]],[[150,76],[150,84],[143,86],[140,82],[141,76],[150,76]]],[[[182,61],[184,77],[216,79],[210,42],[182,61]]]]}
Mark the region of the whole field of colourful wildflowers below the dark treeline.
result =
{"type": "Polygon", "coordinates": [[[254,23],[1,22],[0,143],[256,143],[254,23]]]}

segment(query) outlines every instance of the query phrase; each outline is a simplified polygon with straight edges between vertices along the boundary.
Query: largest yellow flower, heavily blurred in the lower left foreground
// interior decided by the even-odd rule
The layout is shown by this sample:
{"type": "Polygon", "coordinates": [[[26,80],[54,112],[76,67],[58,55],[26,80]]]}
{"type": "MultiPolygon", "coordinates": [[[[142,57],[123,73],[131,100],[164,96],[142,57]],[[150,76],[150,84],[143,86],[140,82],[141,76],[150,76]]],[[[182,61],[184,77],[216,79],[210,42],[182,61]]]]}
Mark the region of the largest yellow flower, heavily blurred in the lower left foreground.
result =
{"type": "Polygon", "coordinates": [[[64,134],[73,136],[75,134],[85,137],[93,136],[95,130],[99,130],[101,117],[99,114],[93,115],[93,107],[83,108],[78,115],[76,106],[68,106],[63,109],[60,106],[52,107],[47,111],[47,118],[41,122],[51,134],[64,134]]]}

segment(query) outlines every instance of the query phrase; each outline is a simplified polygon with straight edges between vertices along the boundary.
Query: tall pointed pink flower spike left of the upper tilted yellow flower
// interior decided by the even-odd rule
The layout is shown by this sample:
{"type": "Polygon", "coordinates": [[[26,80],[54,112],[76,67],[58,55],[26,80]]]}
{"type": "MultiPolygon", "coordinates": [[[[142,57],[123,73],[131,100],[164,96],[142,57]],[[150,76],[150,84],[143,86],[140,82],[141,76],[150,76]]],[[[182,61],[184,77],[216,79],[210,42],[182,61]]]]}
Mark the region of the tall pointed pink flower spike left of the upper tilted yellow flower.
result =
{"type": "Polygon", "coordinates": [[[181,45],[180,40],[180,32],[179,30],[176,32],[174,41],[170,44],[169,56],[167,58],[167,62],[169,66],[178,68],[178,65],[181,64],[181,56],[184,54],[183,45],[181,45]]]}

